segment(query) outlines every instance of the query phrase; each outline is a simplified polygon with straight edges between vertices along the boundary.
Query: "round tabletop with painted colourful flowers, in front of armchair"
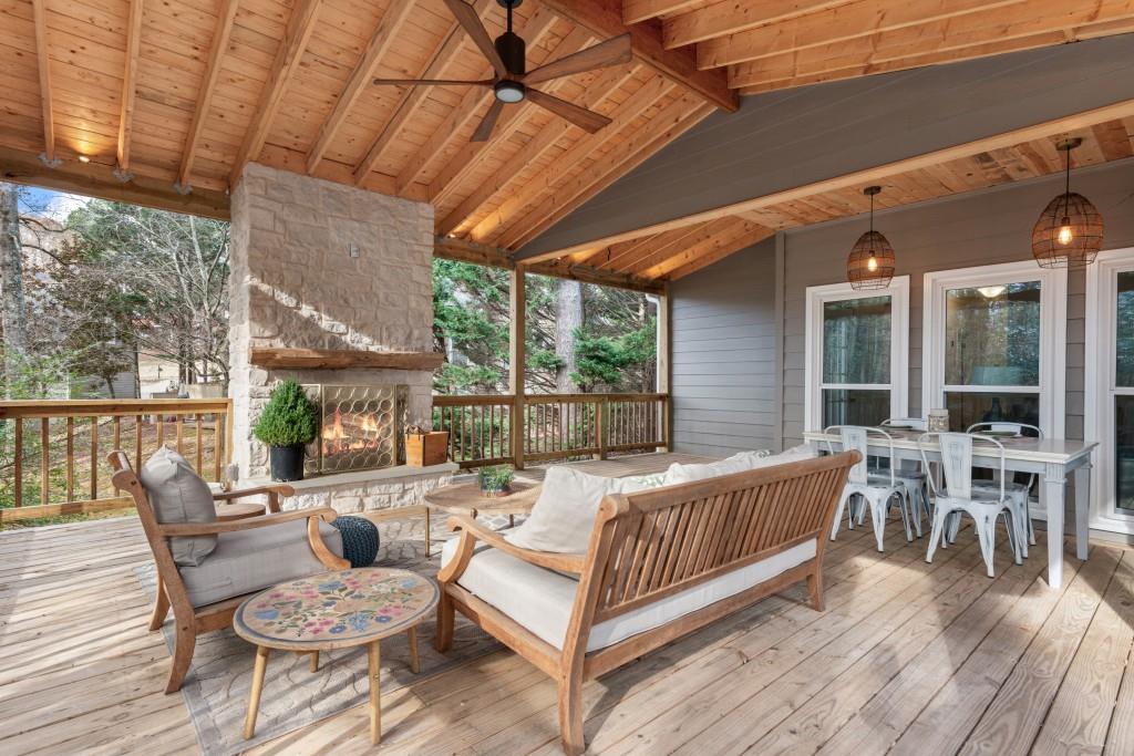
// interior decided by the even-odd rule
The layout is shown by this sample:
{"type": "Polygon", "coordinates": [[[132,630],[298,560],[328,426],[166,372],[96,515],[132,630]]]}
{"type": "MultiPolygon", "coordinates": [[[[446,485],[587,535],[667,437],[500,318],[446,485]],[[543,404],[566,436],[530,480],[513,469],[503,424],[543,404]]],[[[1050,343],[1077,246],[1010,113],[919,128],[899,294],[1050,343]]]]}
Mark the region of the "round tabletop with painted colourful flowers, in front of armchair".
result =
{"type": "Polygon", "coordinates": [[[404,632],[437,605],[437,584],[408,570],[322,572],[252,596],[232,629],[257,646],[290,651],[358,646],[404,632]]]}

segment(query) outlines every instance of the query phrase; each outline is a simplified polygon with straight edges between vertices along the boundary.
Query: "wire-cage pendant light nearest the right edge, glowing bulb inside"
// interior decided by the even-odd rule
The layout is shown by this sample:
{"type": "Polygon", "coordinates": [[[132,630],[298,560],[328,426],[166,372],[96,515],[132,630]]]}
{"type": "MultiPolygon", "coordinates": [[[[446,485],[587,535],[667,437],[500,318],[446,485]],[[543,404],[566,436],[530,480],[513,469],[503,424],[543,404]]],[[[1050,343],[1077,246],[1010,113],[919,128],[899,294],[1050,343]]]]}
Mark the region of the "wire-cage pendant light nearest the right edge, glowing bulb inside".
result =
{"type": "Polygon", "coordinates": [[[1032,256],[1040,267],[1085,267],[1102,248],[1102,215],[1070,190],[1070,151],[1081,144],[1074,138],[1057,145],[1067,153],[1064,193],[1048,203],[1032,229],[1032,256]]]}

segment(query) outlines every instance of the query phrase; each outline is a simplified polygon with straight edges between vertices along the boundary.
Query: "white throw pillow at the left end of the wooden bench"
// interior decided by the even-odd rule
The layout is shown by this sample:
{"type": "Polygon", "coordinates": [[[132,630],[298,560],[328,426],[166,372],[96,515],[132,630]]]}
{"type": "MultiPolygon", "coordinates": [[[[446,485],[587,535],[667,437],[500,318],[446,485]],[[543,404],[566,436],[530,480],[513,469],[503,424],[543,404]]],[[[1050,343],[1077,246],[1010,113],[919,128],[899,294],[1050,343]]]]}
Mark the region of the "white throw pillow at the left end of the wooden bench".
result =
{"type": "Polygon", "coordinates": [[[658,487],[658,477],[607,478],[557,465],[548,469],[532,513],[505,538],[521,549],[583,553],[591,543],[594,516],[602,498],[658,487]]]}

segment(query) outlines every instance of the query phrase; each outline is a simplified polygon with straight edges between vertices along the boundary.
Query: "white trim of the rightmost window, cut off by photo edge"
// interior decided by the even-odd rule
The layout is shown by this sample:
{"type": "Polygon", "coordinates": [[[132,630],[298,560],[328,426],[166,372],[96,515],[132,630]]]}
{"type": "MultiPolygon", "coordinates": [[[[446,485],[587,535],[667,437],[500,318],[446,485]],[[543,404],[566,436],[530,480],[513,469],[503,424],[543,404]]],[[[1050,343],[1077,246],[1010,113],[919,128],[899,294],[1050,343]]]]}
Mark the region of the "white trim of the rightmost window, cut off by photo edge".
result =
{"type": "MultiPolygon", "coordinates": [[[[1086,349],[1083,402],[1083,436],[1098,441],[1091,473],[1092,528],[1115,533],[1134,533],[1134,513],[1118,511],[1114,500],[1115,413],[1111,391],[1115,389],[1115,275],[1134,269],[1134,247],[1107,249],[1086,271],[1086,349]]],[[[1122,393],[1134,393],[1123,389],[1122,393]]]]}

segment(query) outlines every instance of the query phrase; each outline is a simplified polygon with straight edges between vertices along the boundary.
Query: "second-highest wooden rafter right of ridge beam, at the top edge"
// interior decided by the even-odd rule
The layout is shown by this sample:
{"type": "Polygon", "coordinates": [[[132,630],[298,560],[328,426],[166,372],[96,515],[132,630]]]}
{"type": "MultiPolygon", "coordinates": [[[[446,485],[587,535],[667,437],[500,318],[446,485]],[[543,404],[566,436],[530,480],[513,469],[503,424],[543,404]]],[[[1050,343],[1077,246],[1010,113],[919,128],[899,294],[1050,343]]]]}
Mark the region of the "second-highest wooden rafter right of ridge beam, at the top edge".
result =
{"type": "Polygon", "coordinates": [[[735,2],[721,0],[708,8],[667,19],[663,25],[665,46],[680,48],[694,42],[737,34],[750,28],[845,6],[854,0],[764,0],[735,2]]]}

